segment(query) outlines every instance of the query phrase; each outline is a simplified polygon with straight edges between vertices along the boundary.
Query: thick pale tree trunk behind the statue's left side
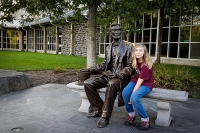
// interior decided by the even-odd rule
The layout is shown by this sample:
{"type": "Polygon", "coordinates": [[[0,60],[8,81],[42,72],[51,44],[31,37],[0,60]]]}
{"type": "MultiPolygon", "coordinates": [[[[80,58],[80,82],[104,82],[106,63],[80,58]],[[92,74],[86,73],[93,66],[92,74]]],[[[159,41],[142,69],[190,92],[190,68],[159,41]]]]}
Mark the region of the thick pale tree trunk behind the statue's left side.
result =
{"type": "MultiPolygon", "coordinates": [[[[94,0],[95,1],[95,0],[94,0]]],[[[89,6],[87,21],[86,42],[87,42],[87,68],[96,65],[96,16],[98,4],[93,2],[89,6]]]]}

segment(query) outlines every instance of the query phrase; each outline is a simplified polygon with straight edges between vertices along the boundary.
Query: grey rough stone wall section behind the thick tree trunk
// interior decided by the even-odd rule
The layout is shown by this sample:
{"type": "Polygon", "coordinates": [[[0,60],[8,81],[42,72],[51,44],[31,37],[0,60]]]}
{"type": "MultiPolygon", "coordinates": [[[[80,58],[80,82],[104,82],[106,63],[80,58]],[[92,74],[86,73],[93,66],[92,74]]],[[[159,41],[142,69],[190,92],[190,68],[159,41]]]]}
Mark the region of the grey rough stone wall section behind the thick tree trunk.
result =
{"type": "MultiPolygon", "coordinates": [[[[62,29],[62,54],[70,55],[72,54],[71,51],[71,44],[72,44],[72,30],[70,24],[66,24],[63,26],[62,29]]],[[[79,23],[74,26],[74,51],[73,55],[76,56],[87,56],[87,44],[86,44],[86,33],[87,27],[86,23],[79,23]]],[[[97,33],[99,33],[99,27],[97,28],[97,33]]],[[[96,38],[96,54],[99,55],[99,37],[96,38]]]]}

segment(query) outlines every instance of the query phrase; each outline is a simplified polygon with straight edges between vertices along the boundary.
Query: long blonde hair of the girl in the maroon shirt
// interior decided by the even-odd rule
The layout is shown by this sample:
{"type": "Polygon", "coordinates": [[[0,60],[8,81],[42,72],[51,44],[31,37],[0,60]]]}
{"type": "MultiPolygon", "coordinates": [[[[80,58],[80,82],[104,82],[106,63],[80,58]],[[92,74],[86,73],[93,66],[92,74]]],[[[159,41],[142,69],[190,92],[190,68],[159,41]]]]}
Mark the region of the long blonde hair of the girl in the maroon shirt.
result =
{"type": "Polygon", "coordinates": [[[144,49],[144,55],[143,55],[144,63],[143,63],[143,65],[146,65],[148,67],[148,69],[151,69],[152,66],[153,66],[151,57],[149,56],[147,47],[144,44],[141,44],[141,43],[136,43],[135,46],[133,47],[133,53],[132,53],[132,58],[133,58],[132,66],[133,66],[133,68],[137,67],[137,59],[135,57],[135,50],[138,47],[142,47],[144,49]]]}

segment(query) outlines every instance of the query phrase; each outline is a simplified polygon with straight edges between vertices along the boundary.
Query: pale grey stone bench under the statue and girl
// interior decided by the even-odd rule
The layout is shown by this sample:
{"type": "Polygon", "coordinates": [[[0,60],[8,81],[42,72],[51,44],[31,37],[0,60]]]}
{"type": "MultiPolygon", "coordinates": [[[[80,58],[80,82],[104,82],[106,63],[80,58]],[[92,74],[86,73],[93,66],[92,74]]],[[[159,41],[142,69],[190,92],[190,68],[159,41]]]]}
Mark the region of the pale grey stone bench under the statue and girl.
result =
{"type": "MultiPolygon", "coordinates": [[[[87,99],[84,86],[79,85],[78,82],[72,82],[66,86],[72,91],[78,92],[80,94],[82,103],[78,111],[87,113],[90,103],[87,99]]],[[[101,88],[98,91],[100,93],[105,93],[106,88],[101,88]]],[[[169,127],[172,120],[171,102],[187,101],[188,93],[186,91],[153,88],[153,90],[144,98],[150,98],[157,101],[157,118],[155,120],[155,124],[169,127]]]]}

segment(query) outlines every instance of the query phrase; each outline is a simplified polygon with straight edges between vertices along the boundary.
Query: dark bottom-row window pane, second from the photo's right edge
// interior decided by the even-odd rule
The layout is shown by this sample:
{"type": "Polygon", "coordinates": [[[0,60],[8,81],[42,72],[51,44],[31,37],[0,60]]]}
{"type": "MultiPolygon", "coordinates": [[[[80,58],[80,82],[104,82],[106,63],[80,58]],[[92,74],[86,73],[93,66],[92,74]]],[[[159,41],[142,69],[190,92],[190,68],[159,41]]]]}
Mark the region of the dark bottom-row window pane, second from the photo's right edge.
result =
{"type": "Polygon", "coordinates": [[[179,46],[180,46],[179,57],[180,58],[188,58],[189,43],[181,43],[181,44],[179,44],[179,46]]]}

